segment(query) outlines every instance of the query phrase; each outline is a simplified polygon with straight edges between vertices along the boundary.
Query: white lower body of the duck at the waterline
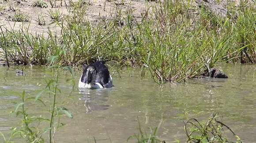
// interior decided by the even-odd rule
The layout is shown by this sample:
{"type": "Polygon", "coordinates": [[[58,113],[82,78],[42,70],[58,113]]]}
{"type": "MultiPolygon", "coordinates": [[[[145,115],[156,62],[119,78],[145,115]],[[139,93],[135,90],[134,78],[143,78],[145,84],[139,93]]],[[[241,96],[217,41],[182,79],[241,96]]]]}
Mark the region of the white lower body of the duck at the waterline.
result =
{"type": "MultiPolygon", "coordinates": [[[[90,83],[87,84],[87,83],[84,83],[84,82],[81,82],[81,78],[82,78],[83,74],[81,75],[80,79],[79,79],[79,82],[78,82],[78,87],[79,88],[88,88],[88,89],[97,89],[97,88],[104,88],[100,83],[98,82],[95,82],[94,85],[91,85],[90,83]]],[[[113,79],[111,77],[111,75],[109,75],[109,82],[107,84],[105,84],[105,88],[110,88],[110,87],[113,87],[113,79]]]]}

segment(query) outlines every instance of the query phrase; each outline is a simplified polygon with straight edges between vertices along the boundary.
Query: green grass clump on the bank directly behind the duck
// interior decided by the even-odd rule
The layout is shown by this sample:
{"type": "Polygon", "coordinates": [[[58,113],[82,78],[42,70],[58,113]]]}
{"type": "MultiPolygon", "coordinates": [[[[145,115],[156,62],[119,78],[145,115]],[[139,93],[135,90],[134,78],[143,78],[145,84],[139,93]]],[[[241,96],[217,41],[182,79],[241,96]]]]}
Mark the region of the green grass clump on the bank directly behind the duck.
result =
{"type": "MultiPolygon", "coordinates": [[[[69,59],[64,64],[83,64],[94,60],[125,62],[131,57],[125,29],[119,29],[116,19],[105,19],[102,25],[94,25],[84,17],[86,6],[73,4],[72,12],[66,16],[62,30],[62,47],[69,59]],[[81,58],[83,56],[83,58],[81,58]]],[[[133,46],[133,44],[132,44],[133,46]]]]}

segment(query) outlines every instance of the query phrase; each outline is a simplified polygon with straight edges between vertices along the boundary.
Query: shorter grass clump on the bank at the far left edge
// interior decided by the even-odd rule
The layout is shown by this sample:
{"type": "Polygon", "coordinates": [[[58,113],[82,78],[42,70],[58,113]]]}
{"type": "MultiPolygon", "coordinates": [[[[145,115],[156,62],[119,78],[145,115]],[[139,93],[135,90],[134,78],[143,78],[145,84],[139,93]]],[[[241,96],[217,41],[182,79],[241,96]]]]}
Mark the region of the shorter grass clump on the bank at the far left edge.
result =
{"type": "Polygon", "coordinates": [[[12,64],[49,65],[49,57],[60,50],[56,33],[48,30],[47,36],[31,34],[29,27],[22,25],[19,30],[5,30],[1,33],[1,47],[5,47],[8,60],[12,64]]]}

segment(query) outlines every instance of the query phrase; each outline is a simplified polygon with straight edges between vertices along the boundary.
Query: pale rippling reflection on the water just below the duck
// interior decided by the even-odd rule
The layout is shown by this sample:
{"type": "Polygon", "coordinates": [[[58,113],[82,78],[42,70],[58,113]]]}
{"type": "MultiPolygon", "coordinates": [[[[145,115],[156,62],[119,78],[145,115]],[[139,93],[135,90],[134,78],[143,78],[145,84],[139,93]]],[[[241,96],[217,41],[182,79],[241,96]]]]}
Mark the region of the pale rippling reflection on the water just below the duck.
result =
{"type": "Polygon", "coordinates": [[[79,93],[79,100],[84,100],[85,113],[107,110],[110,107],[105,104],[109,99],[109,89],[79,89],[79,93]]]}

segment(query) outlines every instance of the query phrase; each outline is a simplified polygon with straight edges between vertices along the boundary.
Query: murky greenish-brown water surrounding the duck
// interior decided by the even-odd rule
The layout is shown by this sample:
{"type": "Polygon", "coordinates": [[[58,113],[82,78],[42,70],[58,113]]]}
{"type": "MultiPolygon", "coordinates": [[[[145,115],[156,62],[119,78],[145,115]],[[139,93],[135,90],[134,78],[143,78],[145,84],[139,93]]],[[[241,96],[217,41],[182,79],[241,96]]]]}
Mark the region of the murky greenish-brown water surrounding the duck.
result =
{"type": "MultiPolygon", "coordinates": [[[[54,139],[56,143],[84,143],[93,138],[97,143],[124,143],[129,136],[139,133],[139,118],[143,131],[150,132],[148,127],[157,127],[162,121],[158,136],[168,142],[179,139],[184,143],[184,121],[206,120],[212,112],[218,112],[223,116],[222,122],[245,143],[255,143],[256,65],[223,64],[222,70],[229,79],[193,79],[160,88],[149,76],[140,79],[139,71],[133,69],[123,71],[121,78],[114,75],[113,88],[95,90],[77,89],[82,73],[78,71],[73,92],[72,84],[66,80],[70,74],[61,71],[58,105],[68,108],[74,118],[61,119],[66,125],[56,132],[54,139]]],[[[47,71],[39,67],[0,67],[0,132],[8,136],[10,128],[20,124],[21,119],[10,111],[21,102],[19,95],[23,90],[33,97],[45,88],[47,71]],[[17,68],[24,68],[26,75],[15,75],[17,68]]],[[[26,107],[31,116],[49,115],[49,107],[33,100],[26,107]]]]}

